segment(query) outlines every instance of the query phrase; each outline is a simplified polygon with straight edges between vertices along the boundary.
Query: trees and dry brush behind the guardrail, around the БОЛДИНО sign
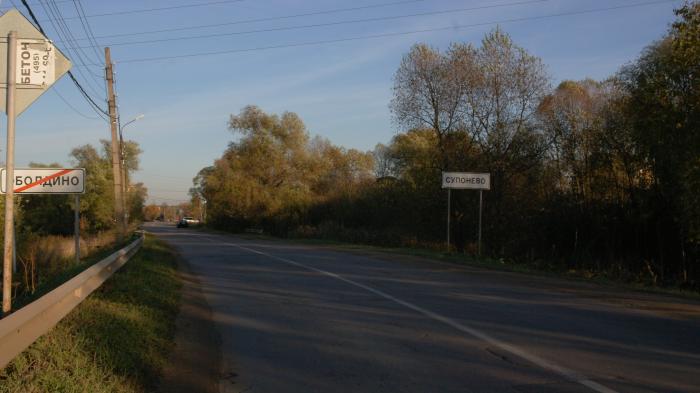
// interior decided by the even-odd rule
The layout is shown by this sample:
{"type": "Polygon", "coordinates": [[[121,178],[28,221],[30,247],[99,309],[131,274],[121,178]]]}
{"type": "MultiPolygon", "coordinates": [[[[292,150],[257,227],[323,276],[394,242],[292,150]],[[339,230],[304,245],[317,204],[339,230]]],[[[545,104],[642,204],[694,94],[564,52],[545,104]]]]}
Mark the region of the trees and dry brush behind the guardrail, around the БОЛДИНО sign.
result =
{"type": "MultiPolygon", "coordinates": [[[[124,167],[128,184],[126,205],[129,221],[143,219],[147,190],[141,183],[130,184],[128,173],[139,167],[141,149],[136,142],[124,142],[124,167]]],[[[81,256],[113,247],[117,240],[114,217],[111,143],[83,145],[70,153],[71,165],[85,169],[85,193],[80,195],[81,256]]],[[[30,163],[33,168],[60,168],[58,163],[30,163]]],[[[4,212],[4,198],[0,208],[4,212]]],[[[73,195],[15,196],[15,236],[18,271],[16,292],[30,295],[47,282],[75,267],[73,195]]],[[[0,233],[0,239],[4,234],[0,233]]]]}

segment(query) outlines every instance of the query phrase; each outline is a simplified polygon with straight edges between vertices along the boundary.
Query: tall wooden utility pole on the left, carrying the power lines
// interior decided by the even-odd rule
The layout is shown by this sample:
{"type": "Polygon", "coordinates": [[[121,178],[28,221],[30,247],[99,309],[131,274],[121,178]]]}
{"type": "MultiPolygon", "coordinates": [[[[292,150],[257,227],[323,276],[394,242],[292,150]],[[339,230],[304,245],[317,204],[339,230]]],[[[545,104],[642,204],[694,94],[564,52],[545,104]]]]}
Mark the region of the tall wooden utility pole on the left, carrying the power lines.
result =
{"type": "Polygon", "coordinates": [[[121,152],[117,135],[117,100],[114,97],[114,70],[109,47],[105,48],[105,79],[107,80],[107,104],[109,106],[109,126],[112,133],[112,176],[114,177],[114,215],[117,218],[119,239],[126,236],[124,220],[124,193],[122,192],[121,152]]]}

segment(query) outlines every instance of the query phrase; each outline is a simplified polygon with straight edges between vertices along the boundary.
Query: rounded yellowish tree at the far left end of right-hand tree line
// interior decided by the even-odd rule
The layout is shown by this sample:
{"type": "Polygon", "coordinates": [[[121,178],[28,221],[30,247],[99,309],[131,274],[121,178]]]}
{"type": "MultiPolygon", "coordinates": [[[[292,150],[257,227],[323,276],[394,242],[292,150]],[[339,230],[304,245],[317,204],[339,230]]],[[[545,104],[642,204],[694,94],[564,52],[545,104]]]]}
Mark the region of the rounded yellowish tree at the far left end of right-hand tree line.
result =
{"type": "Polygon", "coordinates": [[[195,178],[194,191],[207,199],[209,221],[239,229],[274,227],[303,209],[310,198],[308,169],[314,165],[301,119],[248,106],[230,117],[229,129],[240,139],[195,178]]]}

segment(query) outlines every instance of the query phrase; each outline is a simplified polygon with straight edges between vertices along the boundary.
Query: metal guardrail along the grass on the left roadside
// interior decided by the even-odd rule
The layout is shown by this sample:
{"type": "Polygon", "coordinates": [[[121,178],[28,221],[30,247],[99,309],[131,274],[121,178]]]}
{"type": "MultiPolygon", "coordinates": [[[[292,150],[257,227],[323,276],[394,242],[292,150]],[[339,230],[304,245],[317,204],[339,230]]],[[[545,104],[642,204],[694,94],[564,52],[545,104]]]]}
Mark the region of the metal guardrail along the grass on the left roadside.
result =
{"type": "Polygon", "coordinates": [[[143,244],[141,237],[65,284],[0,320],[0,369],[51,330],[119,270],[143,244]]]}

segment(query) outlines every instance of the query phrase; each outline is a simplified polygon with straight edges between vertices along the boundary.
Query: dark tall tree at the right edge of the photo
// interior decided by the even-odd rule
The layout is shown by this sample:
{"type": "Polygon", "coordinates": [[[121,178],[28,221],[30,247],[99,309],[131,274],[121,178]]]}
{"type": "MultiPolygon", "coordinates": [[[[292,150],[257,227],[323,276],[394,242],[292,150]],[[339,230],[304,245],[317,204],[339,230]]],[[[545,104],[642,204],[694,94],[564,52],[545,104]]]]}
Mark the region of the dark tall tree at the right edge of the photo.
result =
{"type": "Polygon", "coordinates": [[[666,37],[625,67],[633,138],[650,168],[661,274],[692,275],[700,247],[700,3],[676,11],[666,37]],[[675,262],[679,261],[680,269],[675,262]]]}

